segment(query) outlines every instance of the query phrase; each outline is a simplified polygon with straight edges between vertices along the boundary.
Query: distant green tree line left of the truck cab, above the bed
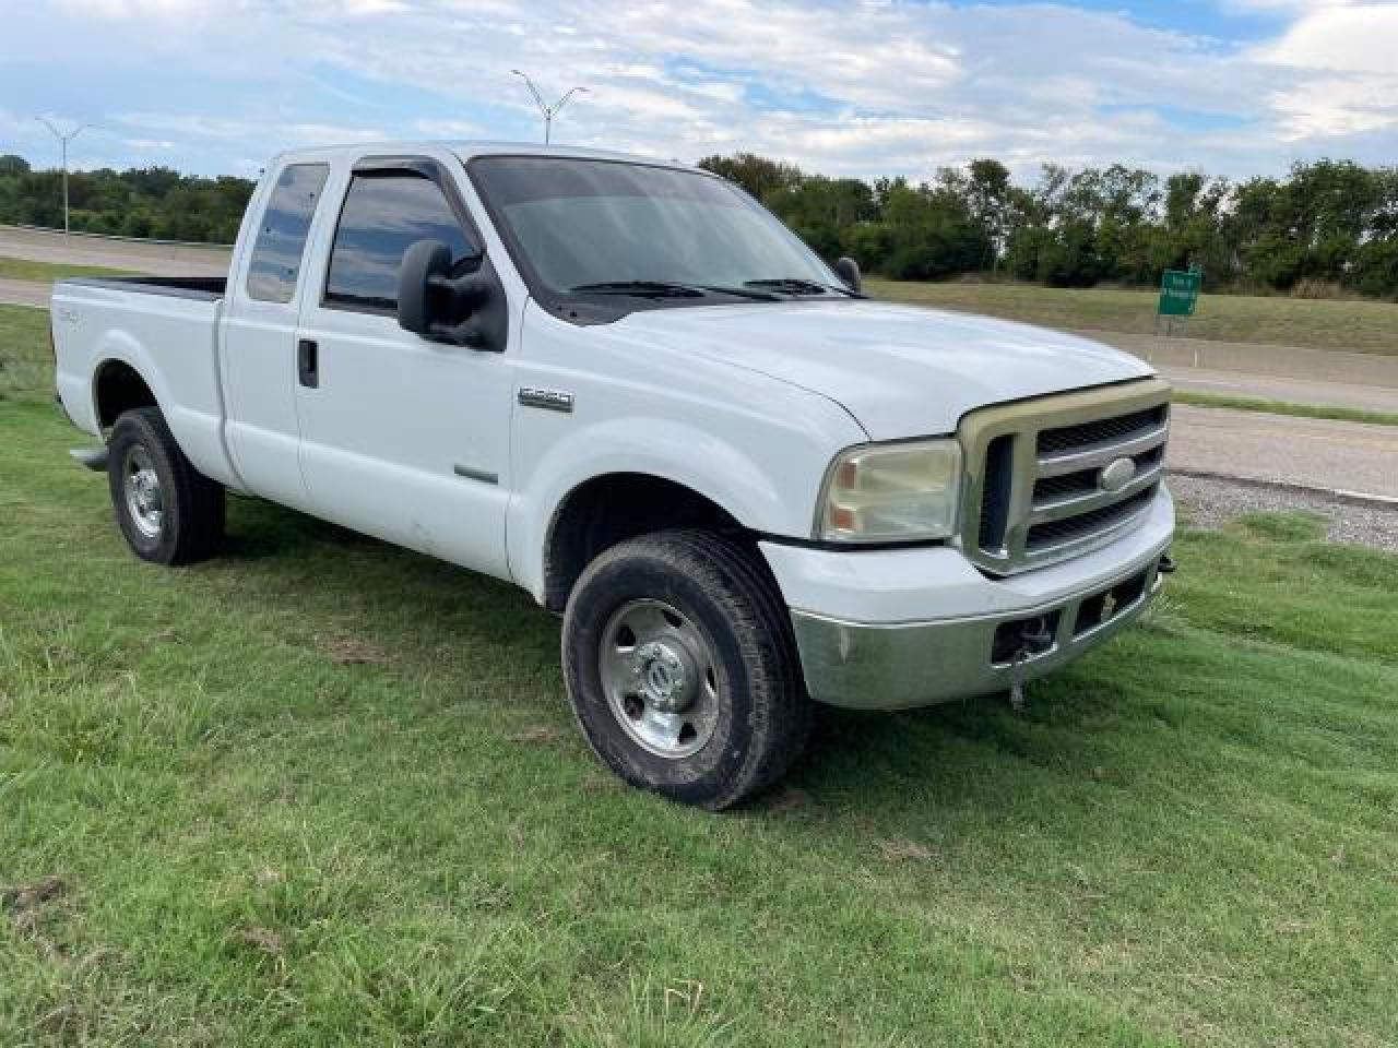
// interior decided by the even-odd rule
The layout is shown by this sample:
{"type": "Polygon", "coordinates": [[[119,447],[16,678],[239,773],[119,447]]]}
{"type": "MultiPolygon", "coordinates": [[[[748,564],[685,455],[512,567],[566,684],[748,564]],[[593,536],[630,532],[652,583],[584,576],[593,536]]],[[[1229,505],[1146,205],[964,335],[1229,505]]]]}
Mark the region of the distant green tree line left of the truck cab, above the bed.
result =
{"type": "MultiPolygon", "coordinates": [[[[75,170],[69,175],[71,228],[158,240],[232,243],[253,183],[180,175],[171,168],[75,170]]],[[[63,228],[63,176],[0,157],[0,222],[63,228]]]]}

